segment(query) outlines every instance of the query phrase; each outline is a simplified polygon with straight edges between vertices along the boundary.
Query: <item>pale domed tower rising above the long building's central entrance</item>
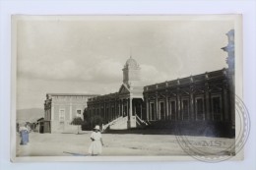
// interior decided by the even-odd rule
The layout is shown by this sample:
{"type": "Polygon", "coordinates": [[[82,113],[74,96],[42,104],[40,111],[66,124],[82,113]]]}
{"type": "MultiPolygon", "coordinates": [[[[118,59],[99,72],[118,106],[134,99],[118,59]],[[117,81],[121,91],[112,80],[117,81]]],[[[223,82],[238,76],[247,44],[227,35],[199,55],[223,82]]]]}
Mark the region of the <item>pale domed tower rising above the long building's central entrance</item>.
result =
{"type": "Polygon", "coordinates": [[[141,81],[141,68],[139,64],[130,56],[123,68],[123,84],[131,86],[141,81]]]}

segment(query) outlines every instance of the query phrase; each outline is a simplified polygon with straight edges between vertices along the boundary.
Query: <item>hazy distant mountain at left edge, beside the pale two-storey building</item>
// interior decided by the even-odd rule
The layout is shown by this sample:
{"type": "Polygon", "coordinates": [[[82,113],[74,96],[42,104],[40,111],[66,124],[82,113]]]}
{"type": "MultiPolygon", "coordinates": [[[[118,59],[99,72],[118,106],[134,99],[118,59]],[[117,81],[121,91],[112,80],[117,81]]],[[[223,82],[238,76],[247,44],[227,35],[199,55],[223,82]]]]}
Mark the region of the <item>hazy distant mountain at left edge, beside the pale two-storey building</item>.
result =
{"type": "Polygon", "coordinates": [[[35,122],[37,119],[44,116],[42,108],[20,109],[17,110],[18,122],[35,122]]]}

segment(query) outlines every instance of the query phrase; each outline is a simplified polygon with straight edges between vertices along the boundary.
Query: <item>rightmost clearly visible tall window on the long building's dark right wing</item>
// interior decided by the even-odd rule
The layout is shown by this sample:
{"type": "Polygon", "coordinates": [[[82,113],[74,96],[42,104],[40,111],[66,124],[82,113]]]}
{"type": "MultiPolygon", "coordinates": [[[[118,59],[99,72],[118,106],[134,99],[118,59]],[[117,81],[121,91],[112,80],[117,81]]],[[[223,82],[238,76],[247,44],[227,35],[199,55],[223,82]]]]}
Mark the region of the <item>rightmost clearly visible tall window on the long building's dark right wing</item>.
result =
{"type": "Polygon", "coordinates": [[[214,121],[222,120],[222,101],[221,95],[216,95],[212,97],[212,113],[214,121]]]}

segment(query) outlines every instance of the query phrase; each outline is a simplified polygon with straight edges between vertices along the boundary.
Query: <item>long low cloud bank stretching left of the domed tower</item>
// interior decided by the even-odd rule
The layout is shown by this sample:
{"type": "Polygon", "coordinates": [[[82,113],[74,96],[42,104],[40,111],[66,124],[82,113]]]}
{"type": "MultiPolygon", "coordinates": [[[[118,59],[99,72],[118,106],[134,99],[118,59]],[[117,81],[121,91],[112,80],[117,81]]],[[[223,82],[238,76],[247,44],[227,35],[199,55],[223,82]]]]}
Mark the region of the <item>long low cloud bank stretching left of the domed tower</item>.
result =
{"type": "Polygon", "coordinates": [[[32,79],[55,81],[86,81],[96,83],[116,83],[122,80],[121,63],[109,59],[101,60],[95,65],[74,60],[52,61],[21,61],[18,75],[32,79]]]}

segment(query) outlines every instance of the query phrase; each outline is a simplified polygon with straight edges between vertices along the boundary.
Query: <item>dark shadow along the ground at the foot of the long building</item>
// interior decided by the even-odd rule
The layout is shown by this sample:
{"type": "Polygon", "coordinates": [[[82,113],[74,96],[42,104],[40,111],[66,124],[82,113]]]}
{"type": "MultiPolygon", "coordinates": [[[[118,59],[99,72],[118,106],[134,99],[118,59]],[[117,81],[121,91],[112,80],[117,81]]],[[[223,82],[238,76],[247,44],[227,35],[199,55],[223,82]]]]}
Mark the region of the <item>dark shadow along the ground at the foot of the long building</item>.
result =
{"type": "Polygon", "coordinates": [[[230,124],[213,122],[185,122],[170,124],[158,121],[145,128],[129,130],[107,130],[104,134],[141,134],[141,135],[177,135],[202,136],[215,138],[234,138],[234,130],[230,124]]]}

